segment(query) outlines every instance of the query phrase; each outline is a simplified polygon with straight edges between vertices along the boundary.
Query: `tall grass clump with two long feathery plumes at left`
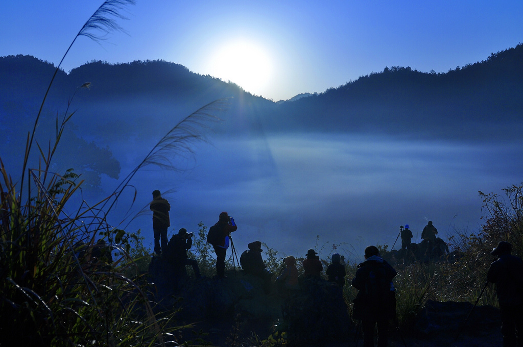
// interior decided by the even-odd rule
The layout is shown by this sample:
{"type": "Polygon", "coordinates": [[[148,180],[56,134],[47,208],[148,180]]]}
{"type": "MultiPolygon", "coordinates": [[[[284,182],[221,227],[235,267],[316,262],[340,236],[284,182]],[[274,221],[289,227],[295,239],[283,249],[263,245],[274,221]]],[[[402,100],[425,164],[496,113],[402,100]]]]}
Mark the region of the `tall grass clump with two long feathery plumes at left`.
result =
{"type": "MultiPolygon", "coordinates": [[[[71,46],[79,36],[101,40],[100,32],[121,29],[115,19],[133,3],[104,2],[71,46]]],[[[65,125],[74,115],[69,112],[72,99],[63,118],[56,117],[53,140],[47,146],[35,140],[43,105],[62,61],[28,132],[24,162],[15,176],[19,179],[13,180],[13,172],[7,172],[0,157],[0,345],[165,345],[179,329],[172,321],[176,312],[158,313],[149,295],[154,288],[139,277],[140,270],[125,272],[139,267],[129,251],[133,241],[140,241],[140,234],[111,226],[108,216],[123,190],[131,188],[139,169],[146,165],[172,168],[171,156],[190,152],[192,142],[204,140],[202,126],[215,119],[212,113],[223,100],[176,124],[106,199],[73,205],[72,198],[82,187],[81,177],[72,169],[51,170],[65,125]],[[30,167],[35,144],[40,161],[30,167]]]]}

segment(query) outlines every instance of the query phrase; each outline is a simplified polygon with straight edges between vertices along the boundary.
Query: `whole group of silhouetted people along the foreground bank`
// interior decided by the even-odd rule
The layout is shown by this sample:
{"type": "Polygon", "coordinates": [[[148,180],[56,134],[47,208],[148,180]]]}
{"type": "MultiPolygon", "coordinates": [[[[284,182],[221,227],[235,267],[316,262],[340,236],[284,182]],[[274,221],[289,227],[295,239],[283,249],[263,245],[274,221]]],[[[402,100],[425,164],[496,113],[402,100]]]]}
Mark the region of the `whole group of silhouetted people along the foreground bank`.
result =
{"type": "MultiPolygon", "coordinates": [[[[195,276],[200,277],[198,262],[188,259],[187,250],[192,246],[192,233],[181,228],[167,242],[167,229],[170,226],[168,201],[162,198],[160,191],[153,192],[153,201],[150,204],[153,211],[153,233],[154,253],[162,255],[167,253],[172,257],[174,263],[180,267],[190,265],[195,276]]],[[[231,233],[237,230],[234,218],[227,212],[219,215],[218,222],[209,229],[207,241],[213,246],[216,253],[216,272],[219,278],[225,278],[225,258],[227,249],[232,245],[231,233]]],[[[432,221],[423,228],[422,242],[435,244],[438,230],[432,221]]],[[[401,227],[400,235],[402,250],[412,247],[412,231],[408,225],[401,227]]],[[[415,244],[414,244],[415,245],[415,244]]],[[[240,264],[246,274],[260,277],[266,293],[270,292],[271,278],[273,274],[267,270],[267,266],[261,257],[261,242],[256,240],[248,244],[240,257],[240,264]]],[[[496,284],[496,294],[502,313],[502,333],[504,346],[523,345],[523,260],[511,255],[511,244],[507,241],[499,242],[491,254],[497,258],[487,273],[487,282],[496,284]]],[[[234,249],[234,248],[233,248],[234,249]]],[[[376,246],[365,248],[365,261],[357,265],[354,279],[351,285],[358,290],[353,301],[353,318],[361,321],[363,333],[363,346],[374,346],[374,332],[377,328],[378,347],[384,347],[388,343],[389,322],[395,319],[396,297],[393,283],[397,275],[396,270],[386,262],[380,255],[376,246]]],[[[325,274],[328,281],[336,284],[340,289],[346,283],[346,267],[343,256],[338,253],[332,255],[332,263],[328,265],[325,274]]],[[[285,267],[276,277],[278,292],[290,294],[299,289],[299,271],[296,259],[293,256],[283,258],[285,267]]],[[[314,249],[309,249],[302,262],[304,279],[310,280],[320,278],[323,272],[323,264],[314,249]]],[[[340,291],[342,293],[342,291],[340,291]]]]}

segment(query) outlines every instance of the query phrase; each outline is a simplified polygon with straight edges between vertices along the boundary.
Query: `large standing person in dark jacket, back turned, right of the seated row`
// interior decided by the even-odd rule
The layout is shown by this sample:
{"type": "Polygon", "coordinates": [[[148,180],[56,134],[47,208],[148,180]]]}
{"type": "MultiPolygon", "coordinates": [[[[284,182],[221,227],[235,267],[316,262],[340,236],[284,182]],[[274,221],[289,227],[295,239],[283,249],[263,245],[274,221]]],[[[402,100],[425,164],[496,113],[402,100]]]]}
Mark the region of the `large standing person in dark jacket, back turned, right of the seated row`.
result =
{"type": "Polygon", "coordinates": [[[378,326],[378,347],[387,345],[389,320],[396,315],[392,279],[397,275],[380,256],[376,246],[365,248],[365,261],[358,264],[352,285],[358,290],[354,299],[353,318],[361,320],[363,346],[374,346],[374,329],[378,326]],[[357,307],[358,305],[358,307],[357,307]]]}

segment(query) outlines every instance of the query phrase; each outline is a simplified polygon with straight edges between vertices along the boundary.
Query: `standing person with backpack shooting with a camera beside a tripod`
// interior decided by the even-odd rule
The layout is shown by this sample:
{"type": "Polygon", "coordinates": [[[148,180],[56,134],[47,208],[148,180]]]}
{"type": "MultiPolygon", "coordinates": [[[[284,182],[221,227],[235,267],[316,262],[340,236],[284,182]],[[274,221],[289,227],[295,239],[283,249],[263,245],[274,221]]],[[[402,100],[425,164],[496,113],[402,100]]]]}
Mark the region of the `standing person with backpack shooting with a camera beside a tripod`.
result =
{"type": "Polygon", "coordinates": [[[231,233],[238,229],[234,218],[227,212],[220,213],[218,222],[209,228],[207,242],[214,247],[216,253],[216,274],[219,278],[225,277],[225,256],[231,239],[231,233]]]}

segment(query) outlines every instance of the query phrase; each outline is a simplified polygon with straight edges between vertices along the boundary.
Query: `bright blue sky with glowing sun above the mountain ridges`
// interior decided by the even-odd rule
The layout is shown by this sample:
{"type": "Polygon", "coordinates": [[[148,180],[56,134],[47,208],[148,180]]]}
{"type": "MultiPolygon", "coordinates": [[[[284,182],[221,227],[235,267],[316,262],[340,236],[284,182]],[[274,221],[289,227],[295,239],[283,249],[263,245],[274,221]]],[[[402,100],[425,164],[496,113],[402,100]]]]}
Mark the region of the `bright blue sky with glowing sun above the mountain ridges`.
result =
{"type": "MultiPolygon", "coordinates": [[[[0,13],[0,55],[29,54],[58,64],[101,3],[5,2],[0,13]]],[[[129,20],[118,22],[127,33],[111,33],[100,44],[79,38],[63,69],[92,60],[163,59],[199,74],[232,80],[277,101],[338,87],[385,66],[447,72],[523,41],[523,2],[515,0],[138,0],[124,15],[129,20]],[[254,49],[255,57],[264,57],[263,62],[253,62],[247,55],[244,60],[252,65],[244,66],[239,76],[231,72],[239,68],[238,63],[228,70],[223,60],[216,61],[225,54],[221,49],[234,50],[238,44],[254,49]],[[258,75],[249,77],[253,72],[258,75]]]]}

